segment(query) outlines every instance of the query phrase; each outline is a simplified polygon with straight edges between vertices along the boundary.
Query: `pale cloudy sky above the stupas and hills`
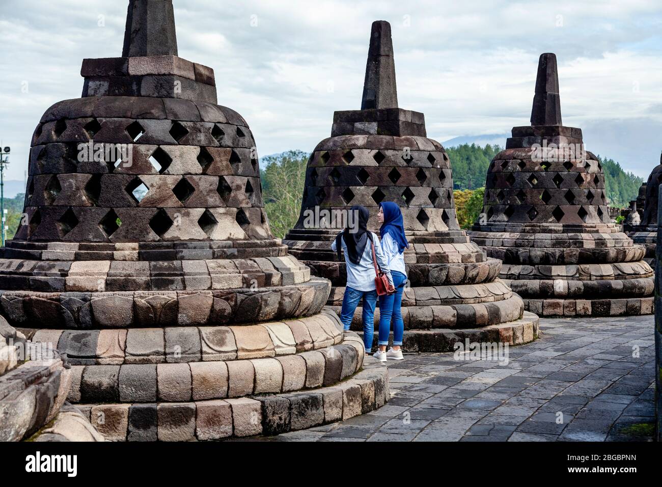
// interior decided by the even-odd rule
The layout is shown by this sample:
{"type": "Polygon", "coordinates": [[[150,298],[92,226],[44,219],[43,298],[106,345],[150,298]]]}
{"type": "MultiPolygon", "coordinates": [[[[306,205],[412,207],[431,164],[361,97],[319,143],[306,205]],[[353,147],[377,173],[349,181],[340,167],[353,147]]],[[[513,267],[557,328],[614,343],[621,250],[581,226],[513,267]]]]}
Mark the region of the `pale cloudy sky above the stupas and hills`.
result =
{"type": "MultiPolygon", "coordinates": [[[[528,125],[538,56],[559,61],[564,125],[647,177],[662,150],[659,0],[174,0],[179,55],[214,68],[218,103],[260,154],[312,150],[334,110],[358,109],[370,25],[391,22],[402,108],[428,136],[505,141],[528,125]]],[[[30,136],[79,97],[83,58],[120,56],[124,0],[3,0],[0,139],[23,180],[30,136]]]]}

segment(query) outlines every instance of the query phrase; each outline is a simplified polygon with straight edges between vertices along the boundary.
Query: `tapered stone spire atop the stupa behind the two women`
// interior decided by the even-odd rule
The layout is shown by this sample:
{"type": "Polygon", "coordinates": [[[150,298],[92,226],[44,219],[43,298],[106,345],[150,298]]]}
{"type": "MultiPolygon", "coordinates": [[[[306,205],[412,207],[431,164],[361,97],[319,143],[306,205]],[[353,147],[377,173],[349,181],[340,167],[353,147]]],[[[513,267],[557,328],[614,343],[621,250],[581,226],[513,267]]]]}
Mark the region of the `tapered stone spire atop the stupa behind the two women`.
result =
{"type": "Polygon", "coordinates": [[[397,107],[391,24],[387,21],[375,21],[370,32],[361,110],[397,107]]]}

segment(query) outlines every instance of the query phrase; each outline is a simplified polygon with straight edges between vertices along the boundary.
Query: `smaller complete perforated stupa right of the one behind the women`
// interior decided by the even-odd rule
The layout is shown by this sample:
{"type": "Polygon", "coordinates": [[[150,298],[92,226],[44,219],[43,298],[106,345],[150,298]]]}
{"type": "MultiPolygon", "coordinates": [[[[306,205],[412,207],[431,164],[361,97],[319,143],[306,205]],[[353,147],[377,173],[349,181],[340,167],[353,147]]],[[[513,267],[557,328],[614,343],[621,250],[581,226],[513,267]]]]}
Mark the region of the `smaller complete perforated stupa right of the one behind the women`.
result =
{"type": "Polygon", "coordinates": [[[493,159],[469,234],[538,315],[652,312],[645,248],[610,223],[600,161],[580,129],[561,124],[554,54],[540,56],[531,126],[514,127],[493,159]]]}

